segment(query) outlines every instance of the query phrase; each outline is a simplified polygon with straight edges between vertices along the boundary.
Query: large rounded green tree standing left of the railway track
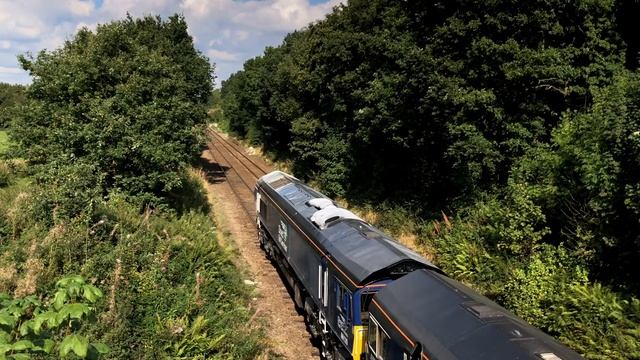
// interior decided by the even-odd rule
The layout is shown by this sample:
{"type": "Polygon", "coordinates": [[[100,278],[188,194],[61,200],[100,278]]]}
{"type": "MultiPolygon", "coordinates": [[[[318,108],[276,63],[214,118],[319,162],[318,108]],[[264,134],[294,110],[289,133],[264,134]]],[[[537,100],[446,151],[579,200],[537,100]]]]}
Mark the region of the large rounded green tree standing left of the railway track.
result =
{"type": "Polygon", "coordinates": [[[31,164],[81,164],[103,192],[144,202],[182,185],[199,155],[212,68],[185,20],[133,19],[80,30],[65,45],[21,56],[33,82],[12,138],[31,164]]]}

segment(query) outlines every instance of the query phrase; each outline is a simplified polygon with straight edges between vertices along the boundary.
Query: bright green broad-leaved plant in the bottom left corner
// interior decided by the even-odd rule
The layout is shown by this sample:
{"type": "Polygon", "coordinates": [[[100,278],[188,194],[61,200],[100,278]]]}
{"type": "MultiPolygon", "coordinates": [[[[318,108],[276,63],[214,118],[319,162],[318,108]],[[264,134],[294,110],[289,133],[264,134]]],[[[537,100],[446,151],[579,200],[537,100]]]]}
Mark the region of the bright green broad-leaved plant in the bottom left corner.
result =
{"type": "Polygon", "coordinates": [[[56,351],[61,358],[97,359],[106,354],[105,344],[80,335],[83,324],[95,320],[93,304],[102,296],[81,276],[60,279],[49,301],[0,293],[0,360],[30,359],[56,351]]]}

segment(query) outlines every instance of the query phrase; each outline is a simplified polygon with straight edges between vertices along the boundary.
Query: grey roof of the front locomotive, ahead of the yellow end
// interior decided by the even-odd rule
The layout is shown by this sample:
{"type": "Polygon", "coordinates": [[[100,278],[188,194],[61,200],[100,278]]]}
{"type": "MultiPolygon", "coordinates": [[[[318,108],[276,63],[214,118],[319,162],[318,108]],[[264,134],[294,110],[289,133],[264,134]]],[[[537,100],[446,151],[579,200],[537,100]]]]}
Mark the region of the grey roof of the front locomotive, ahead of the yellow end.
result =
{"type": "Polygon", "coordinates": [[[259,183],[268,185],[271,190],[269,195],[280,204],[291,221],[300,227],[309,241],[315,242],[335,259],[354,285],[365,285],[397,272],[418,268],[437,269],[418,254],[360,219],[345,218],[320,229],[310,220],[318,209],[308,202],[327,197],[294,177],[273,172],[262,177],[259,183]],[[273,196],[275,194],[271,192],[278,196],[273,196]]]}

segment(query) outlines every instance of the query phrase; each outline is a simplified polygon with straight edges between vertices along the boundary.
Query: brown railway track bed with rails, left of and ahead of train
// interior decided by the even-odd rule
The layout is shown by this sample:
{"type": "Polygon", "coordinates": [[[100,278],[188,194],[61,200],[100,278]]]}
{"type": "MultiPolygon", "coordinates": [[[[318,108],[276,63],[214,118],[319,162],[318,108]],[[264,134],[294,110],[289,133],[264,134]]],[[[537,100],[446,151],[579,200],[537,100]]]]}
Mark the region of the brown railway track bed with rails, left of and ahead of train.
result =
{"type": "MultiPolygon", "coordinates": [[[[274,351],[286,359],[318,359],[304,317],[295,309],[289,290],[260,249],[255,226],[253,187],[272,169],[249,155],[234,141],[208,130],[202,154],[209,199],[218,223],[229,231],[261,294],[254,301],[256,315],[267,319],[267,336],[274,351]]],[[[251,282],[247,283],[251,284],[251,282]]]]}

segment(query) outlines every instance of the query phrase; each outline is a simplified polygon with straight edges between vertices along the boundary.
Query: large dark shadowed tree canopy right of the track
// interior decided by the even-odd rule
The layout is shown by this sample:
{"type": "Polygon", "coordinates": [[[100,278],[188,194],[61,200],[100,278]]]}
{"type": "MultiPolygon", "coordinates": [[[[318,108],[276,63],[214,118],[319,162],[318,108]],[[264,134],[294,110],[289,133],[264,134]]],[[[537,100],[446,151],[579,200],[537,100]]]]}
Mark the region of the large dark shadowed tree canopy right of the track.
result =
{"type": "Polygon", "coordinates": [[[473,200],[609,81],[624,59],[615,12],[353,0],[249,60],[223,84],[225,114],[337,194],[473,200]]]}

